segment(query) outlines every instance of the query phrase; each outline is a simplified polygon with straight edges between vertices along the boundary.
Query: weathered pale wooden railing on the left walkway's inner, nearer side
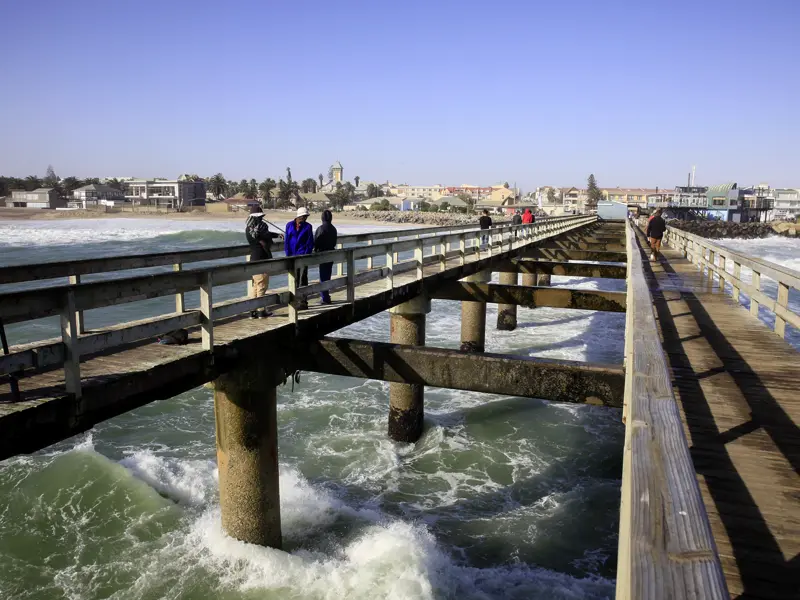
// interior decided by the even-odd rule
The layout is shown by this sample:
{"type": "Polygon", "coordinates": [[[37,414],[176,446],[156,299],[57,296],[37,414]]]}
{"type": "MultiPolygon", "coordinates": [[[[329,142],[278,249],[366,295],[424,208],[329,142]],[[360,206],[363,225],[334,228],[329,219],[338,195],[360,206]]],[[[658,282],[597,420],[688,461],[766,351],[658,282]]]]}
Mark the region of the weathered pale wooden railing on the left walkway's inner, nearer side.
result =
{"type": "MultiPolygon", "coordinates": [[[[406,232],[380,232],[347,236],[348,241],[367,242],[351,248],[332,250],[304,256],[277,258],[264,261],[218,265],[213,267],[181,270],[139,277],[110,279],[91,283],[80,283],[75,280],[70,285],[52,286],[9,292],[0,294],[0,319],[5,324],[30,321],[49,316],[60,316],[61,339],[47,340],[41,343],[18,349],[10,354],[0,356],[0,375],[19,374],[24,369],[39,369],[63,365],[67,392],[80,397],[80,361],[81,356],[109,350],[115,346],[150,339],[167,334],[176,329],[200,326],[202,347],[211,351],[214,347],[214,321],[237,314],[247,313],[267,306],[281,305],[289,308],[289,321],[298,320],[298,306],[308,296],[323,290],[346,290],[346,299],[353,302],[356,286],[378,281],[386,281],[386,289],[392,290],[395,275],[407,271],[416,271],[416,279],[423,278],[426,265],[438,264],[439,270],[446,269],[447,261],[457,259],[458,264],[475,258],[492,256],[496,252],[506,252],[522,247],[537,240],[558,235],[562,232],[587,225],[596,217],[567,217],[540,221],[532,225],[499,226],[490,230],[476,229],[474,226],[460,228],[452,233],[453,228],[416,229],[406,232]],[[414,239],[374,243],[376,240],[397,238],[402,234],[413,235],[414,239]],[[481,237],[488,236],[489,243],[481,246],[481,237]],[[426,251],[430,253],[426,254],[426,251]],[[413,257],[400,261],[399,255],[413,251],[413,257]],[[374,267],[372,258],[384,256],[386,264],[374,267]],[[359,272],[357,261],[367,259],[366,270],[359,272]],[[299,269],[320,263],[338,263],[344,268],[337,271],[337,276],[330,281],[299,286],[296,273],[299,269]],[[237,298],[214,304],[213,289],[215,286],[249,281],[253,275],[269,274],[288,276],[288,287],[273,290],[272,293],[258,298],[237,298]],[[185,310],[182,295],[199,290],[200,307],[196,310],[185,310]],[[176,311],[151,319],[122,323],[101,331],[84,333],[79,327],[82,311],[146,300],[163,296],[176,296],[176,311]]],[[[458,229],[458,228],[457,228],[458,229]]],[[[345,236],[343,236],[344,238],[345,236]]],[[[88,261],[77,261],[78,267],[70,267],[59,263],[59,270],[50,266],[39,265],[31,271],[31,278],[61,276],[70,272],[87,272],[81,269],[93,269],[90,272],[118,270],[120,265],[127,268],[140,268],[155,264],[170,264],[171,261],[186,262],[186,255],[194,260],[199,253],[213,253],[217,258],[224,254],[224,249],[195,251],[189,253],[165,253],[149,255],[148,264],[143,265],[142,257],[121,257],[105,259],[113,265],[100,265],[88,261]],[[128,262],[124,262],[124,261],[128,262]],[[136,262],[139,260],[139,262],[136,262]],[[161,261],[161,262],[158,262],[161,261]],[[166,261],[166,262],[164,262],[166,261]],[[136,265],[131,266],[131,265],[136,265]],[[41,270],[38,270],[41,269],[41,270]],[[50,269],[50,270],[48,270],[50,269]],[[58,272],[59,275],[53,275],[58,272]]],[[[197,260],[209,260],[208,254],[197,260]]],[[[75,277],[75,275],[73,275],[75,277]]]]}

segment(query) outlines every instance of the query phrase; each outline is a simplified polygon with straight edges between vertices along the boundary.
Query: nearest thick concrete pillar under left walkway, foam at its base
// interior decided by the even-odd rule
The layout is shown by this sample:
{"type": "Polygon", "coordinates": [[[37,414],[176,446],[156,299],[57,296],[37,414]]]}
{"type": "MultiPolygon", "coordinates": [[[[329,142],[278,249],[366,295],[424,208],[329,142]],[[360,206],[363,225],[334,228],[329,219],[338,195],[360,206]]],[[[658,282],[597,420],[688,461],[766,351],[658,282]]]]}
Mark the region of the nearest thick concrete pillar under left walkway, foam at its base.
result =
{"type": "Polygon", "coordinates": [[[214,382],[222,528],[237,540],[271,548],[281,547],[280,375],[248,363],[214,382]]]}

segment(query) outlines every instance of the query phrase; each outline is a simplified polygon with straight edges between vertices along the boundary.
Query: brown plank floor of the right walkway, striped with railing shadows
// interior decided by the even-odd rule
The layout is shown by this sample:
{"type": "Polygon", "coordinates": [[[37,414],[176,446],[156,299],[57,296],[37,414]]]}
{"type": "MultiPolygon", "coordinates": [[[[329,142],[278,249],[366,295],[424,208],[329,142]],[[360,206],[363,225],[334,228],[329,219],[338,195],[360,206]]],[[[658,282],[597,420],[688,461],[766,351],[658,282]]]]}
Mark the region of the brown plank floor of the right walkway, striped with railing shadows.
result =
{"type": "Polygon", "coordinates": [[[800,352],[677,251],[645,274],[731,597],[796,600],[800,352]]]}

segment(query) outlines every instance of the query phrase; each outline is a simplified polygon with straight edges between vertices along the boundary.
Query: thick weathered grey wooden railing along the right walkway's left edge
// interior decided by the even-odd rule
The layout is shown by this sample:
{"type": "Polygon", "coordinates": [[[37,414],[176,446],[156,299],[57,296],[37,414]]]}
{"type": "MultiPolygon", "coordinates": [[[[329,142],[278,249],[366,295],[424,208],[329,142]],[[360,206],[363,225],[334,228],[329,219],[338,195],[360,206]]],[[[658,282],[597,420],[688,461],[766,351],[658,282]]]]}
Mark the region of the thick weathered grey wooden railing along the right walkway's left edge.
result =
{"type": "Polygon", "coordinates": [[[625,446],[617,600],[728,598],[661,347],[642,251],[628,223],[625,446]]]}

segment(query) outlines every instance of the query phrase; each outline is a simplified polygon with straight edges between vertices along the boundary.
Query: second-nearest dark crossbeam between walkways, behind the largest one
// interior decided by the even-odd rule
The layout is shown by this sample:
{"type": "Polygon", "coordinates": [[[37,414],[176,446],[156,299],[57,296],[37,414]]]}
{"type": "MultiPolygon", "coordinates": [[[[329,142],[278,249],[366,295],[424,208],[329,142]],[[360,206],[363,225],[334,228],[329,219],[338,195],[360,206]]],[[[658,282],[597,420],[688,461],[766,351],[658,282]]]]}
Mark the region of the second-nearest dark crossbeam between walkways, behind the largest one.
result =
{"type": "Polygon", "coordinates": [[[514,304],[528,308],[549,306],[551,308],[625,312],[625,292],[453,282],[432,292],[431,296],[439,300],[514,304]]]}

